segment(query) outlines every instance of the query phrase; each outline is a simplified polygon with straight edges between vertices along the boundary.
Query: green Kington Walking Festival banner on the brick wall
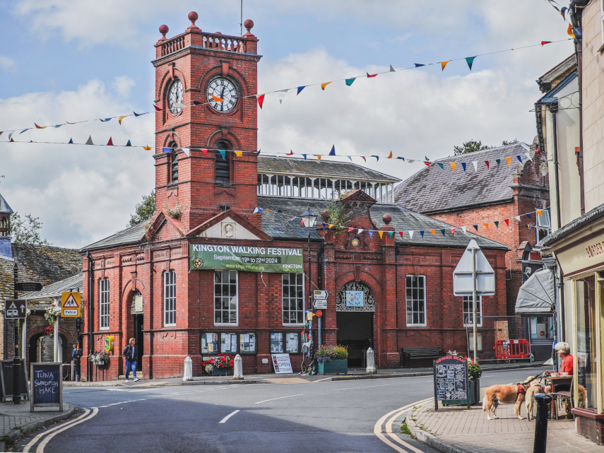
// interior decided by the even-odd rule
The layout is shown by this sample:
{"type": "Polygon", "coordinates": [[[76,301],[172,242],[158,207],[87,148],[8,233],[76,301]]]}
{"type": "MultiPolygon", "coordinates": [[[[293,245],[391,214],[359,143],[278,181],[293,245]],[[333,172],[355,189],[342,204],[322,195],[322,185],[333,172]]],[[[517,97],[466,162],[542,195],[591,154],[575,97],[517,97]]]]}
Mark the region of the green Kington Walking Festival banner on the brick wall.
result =
{"type": "Polygon", "coordinates": [[[304,271],[302,249],[242,247],[239,245],[189,245],[192,269],[224,269],[248,272],[304,271]]]}

